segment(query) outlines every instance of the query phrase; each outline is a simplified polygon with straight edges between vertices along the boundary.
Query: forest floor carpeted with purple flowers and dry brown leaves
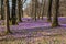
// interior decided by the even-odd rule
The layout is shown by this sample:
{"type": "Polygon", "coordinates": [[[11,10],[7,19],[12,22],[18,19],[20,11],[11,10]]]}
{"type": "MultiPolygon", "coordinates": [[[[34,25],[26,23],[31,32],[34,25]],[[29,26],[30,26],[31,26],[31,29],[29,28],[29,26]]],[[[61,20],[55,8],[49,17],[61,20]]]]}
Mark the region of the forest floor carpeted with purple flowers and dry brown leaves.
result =
{"type": "MultiPolygon", "coordinates": [[[[61,26],[57,28],[51,28],[46,18],[36,22],[29,18],[22,20],[19,25],[10,25],[13,34],[0,36],[0,44],[66,44],[66,18],[58,18],[61,26]]],[[[4,32],[3,25],[0,25],[1,32],[4,32]]]]}

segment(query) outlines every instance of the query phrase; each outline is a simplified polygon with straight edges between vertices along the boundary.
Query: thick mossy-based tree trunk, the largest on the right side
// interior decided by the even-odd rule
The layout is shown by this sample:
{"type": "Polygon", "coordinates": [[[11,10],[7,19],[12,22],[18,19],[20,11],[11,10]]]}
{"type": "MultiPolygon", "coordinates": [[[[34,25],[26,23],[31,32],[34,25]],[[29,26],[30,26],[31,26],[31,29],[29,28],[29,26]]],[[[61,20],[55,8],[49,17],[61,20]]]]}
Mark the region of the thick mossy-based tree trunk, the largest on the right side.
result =
{"type": "Polygon", "coordinates": [[[53,15],[52,26],[58,26],[58,11],[59,11],[59,0],[56,0],[55,4],[56,13],[53,15]]]}

